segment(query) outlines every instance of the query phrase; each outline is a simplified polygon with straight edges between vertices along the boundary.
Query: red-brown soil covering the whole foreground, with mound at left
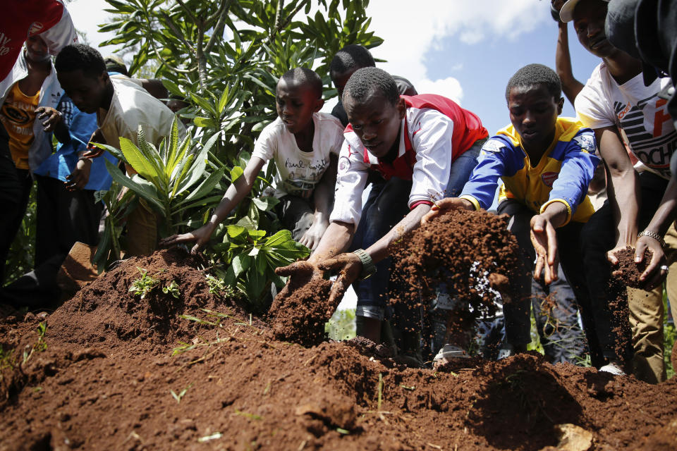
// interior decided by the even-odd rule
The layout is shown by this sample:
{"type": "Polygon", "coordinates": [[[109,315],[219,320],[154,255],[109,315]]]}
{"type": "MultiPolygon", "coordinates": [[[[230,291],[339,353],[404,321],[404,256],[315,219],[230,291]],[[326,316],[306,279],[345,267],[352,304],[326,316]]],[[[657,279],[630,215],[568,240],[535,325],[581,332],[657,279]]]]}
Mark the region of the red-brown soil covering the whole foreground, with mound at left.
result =
{"type": "Polygon", "coordinates": [[[594,450],[677,443],[674,378],[535,354],[434,372],[359,340],[306,348],[210,293],[199,264],[168,251],[127,261],[44,333],[39,316],[0,309],[0,450],[541,450],[561,424],[594,450]],[[129,292],[137,266],[160,280],[144,299],[129,292]],[[171,280],[178,299],[161,290],[171,280]]]}

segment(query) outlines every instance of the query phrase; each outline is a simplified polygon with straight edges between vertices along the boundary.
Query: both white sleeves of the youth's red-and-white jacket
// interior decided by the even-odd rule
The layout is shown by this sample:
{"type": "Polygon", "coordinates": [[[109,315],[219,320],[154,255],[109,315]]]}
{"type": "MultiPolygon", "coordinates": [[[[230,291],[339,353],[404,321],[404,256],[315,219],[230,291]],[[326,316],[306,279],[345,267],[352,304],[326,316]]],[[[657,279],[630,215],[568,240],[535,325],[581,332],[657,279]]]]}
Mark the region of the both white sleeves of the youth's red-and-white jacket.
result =
{"type": "MultiPolygon", "coordinates": [[[[413,208],[421,202],[429,203],[431,193],[444,193],[446,190],[453,160],[453,121],[434,109],[409,107],[400,130],[404,132],[400,133],[396,161],[415,161],[408,199],[409,208],[413,208]]],[[[367,175],[372,166],[379,165],[379,159],[369,151],[365,152],[362,141],[350,127],[346,128],[344,135],[346,140],[338,157],[334,209],[329,221],[357,225],[362,216],[362,192],[367,184],[367,175]]]]}

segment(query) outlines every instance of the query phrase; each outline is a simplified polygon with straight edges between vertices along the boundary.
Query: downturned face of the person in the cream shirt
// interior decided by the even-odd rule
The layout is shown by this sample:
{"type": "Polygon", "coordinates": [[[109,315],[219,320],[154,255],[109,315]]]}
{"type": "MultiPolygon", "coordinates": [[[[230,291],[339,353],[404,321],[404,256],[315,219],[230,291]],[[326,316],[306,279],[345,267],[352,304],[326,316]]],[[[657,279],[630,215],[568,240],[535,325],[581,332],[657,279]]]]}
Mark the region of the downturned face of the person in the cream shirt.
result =
{"type": "Polygon", "coordinates": [[[78,69],[56,73],[56,78],[80,111],[96,113],[104,104],[106,87],[110,82],[107,72],[94,77],[85,75],[82,69],[78,69]]]}

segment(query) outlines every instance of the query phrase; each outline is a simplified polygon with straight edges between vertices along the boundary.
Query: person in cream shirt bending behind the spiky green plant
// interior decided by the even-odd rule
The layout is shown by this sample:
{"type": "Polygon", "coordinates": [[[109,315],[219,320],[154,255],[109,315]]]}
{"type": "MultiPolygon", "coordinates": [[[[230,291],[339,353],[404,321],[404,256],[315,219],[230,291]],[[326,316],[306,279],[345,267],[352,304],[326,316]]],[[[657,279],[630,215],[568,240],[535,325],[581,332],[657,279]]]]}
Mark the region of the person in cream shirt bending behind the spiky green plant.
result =
{"type": "MultiPolygon", "coordinates": [[[[171,133],[174,113],[161,101],[128,78],[109,77],[104,58],[92,47],[75,44],[65,47],[56,57],[56,72],[61,86],[80,111],[97,114],[99,128],[91,141],[118,146],[120,137],[138,144],[138,130],[142,127],[145,140],[159,147],[161,140],[171,133]]],[[[179,134],[185,133],[178,124],[179,134]]],[[[90,158],[101,152],[84,152],[83,171],[71,179],[72,187],[87,185],[90,158]]],[[[128,173],[133,169],[127,166],[128,173]]],[[[127,218],[126,256],[150,255],[157,249],[158,219],[154,211],[140,199],[139,206],[127,218]]]]}

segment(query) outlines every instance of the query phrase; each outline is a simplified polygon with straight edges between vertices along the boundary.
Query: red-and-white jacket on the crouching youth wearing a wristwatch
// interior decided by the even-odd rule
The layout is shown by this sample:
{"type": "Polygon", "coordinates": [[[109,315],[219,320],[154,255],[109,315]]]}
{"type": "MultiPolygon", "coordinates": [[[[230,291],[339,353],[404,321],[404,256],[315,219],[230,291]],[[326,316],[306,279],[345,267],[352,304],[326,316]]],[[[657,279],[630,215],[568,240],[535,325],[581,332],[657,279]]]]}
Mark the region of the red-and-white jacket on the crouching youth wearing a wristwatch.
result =
{"type": "Polygon", "coordinates": [[[343,132],[330,221],[360,222],[369,171],[379,171],[386,180],[393,176],[412,180],[410,209],[419,204],[432,205],[430,193],[444,193],[453,161],[475,141],[489,136],[475,113],[451,99],[435,94],[401,97],[407,111],[400,125],[398,156],[392,163],[370,154],[350,124],[343,132]]]}

